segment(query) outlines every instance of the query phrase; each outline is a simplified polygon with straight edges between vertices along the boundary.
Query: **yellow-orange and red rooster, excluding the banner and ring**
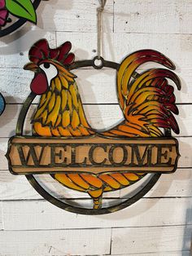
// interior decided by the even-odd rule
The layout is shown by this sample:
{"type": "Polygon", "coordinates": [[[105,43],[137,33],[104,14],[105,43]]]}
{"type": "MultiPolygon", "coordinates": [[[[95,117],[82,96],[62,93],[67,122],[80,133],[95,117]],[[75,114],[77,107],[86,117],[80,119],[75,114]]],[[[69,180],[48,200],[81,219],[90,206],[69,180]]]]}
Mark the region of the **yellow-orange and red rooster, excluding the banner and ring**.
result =
{"type": "MultiPolygon", "coordinates": [[[[37,110],[32,118],[33,135],[44,137],[86,137],[103,135],[111,138],[161,137],[162,128],[172,129],[179,134],[177,121],[172,113],[178,114],[171,79],[177,89],[181,84],[172,71],[151,68],[133,79],[136,69],[153,61],[167,68],[174,64],[164,55],[153,50],[136,51],[126,57],[117,71],[117,93],[124,121],[110,130],[98,133],[86,120],[81,96],[76,86],[76,76],[70,71],[75,55],[70,53],[72,45],[64,42],[50,49],[46,39],[36,42],[29,51],[29,64],[24,69],[35,75],[31,90],[41,95],[37,110]]],[[[94,209],[102,207],[103,192],[125,188],[145,174],[141,173],[62,173],[52,177],[63,186],[79,192],[88,192],[94,200],[94,209]]]]}

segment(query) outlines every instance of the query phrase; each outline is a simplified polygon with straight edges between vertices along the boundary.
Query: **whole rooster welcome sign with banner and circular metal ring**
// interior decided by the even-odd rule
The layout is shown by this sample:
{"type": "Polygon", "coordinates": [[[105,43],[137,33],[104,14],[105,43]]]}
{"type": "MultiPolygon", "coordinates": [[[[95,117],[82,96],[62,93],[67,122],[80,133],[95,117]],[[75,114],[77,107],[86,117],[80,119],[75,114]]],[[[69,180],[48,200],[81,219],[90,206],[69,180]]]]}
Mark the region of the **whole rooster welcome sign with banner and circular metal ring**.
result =
{"type": "Polygon", "coordinates": [[[107,214],[133,204],[148,192],[162,173],[177,169],[179,134],[173,114],[178,114],[171,79],[181,82],[174,64],[153,50],[128,55],[121,64],[103,60],[75,61],[72,45],[64,42],[50,49],[46,39],[29,51],[24,69],[34,72],[32,92],[21,110],[16,136],[9,142],[7,159],[12,174],[25,174],[33,187],[53,204],[80,214],[107,214]],[[166,68],[137,73],[146,62],[166,68]],[[94,130],[85,117],[81,95],[72,69],[81,67],[116,69],[116,91],[124,121],[110,130],[94,130]],[[24,136],[24,119],[36,95],[40,102],[31,119],[32,135],[24,136]],[[91,208],[59,201],[38,183],[35,174],[50,174],[56,182],[93,199],[91,208]],[[103,193],[127,188],[146,175],[150,179],[131,198],[103,207],[103,193]]]}

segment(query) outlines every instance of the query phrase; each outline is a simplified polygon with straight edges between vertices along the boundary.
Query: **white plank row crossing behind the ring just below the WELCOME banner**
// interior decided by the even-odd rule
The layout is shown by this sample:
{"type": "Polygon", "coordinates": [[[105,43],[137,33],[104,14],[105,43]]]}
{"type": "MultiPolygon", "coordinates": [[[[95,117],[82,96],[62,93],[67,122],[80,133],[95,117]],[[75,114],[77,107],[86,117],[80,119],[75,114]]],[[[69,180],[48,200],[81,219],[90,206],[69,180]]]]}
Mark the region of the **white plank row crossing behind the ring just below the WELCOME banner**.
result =
{"type": "MultiPolygon", "coordinates": [[[[51,180],[49,180],[51,186],[51,180]]],[[[55,181],[52,179],[55,188],[55,181]]],[[[28,180],[22,176],[14,176],[8,170],[0,170],[0,200],[38,200],[42,197],[28,183],[28,180]]],[[[76,192],[68,188],[59,187],[59,196],[65,198],[89,198],[87,193],[76,192]]],[[[105,192],[104,198],[122,197],[127,198],[127,190],[123,189],[117,192],[105,192]]],[[[192,169],[178,169],[174,174],[162,174],[159,181],[151,191],[144,197],[184,197],[192,196],[192,169]]],[[[15,202],[16,204],[16,202],[15,202]]]]}

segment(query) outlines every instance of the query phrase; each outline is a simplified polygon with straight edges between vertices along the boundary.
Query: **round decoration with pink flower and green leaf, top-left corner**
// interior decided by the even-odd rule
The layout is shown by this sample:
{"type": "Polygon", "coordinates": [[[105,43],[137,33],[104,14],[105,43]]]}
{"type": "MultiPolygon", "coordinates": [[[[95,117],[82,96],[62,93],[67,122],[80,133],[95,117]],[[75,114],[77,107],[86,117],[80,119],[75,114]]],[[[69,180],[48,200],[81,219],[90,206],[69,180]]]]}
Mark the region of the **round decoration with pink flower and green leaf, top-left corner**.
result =
{"type": "Polygon", "coordinates": [[[26,21],[37,24],[41,0],[0,0],[0,37],[19,29],[26,21]]]}

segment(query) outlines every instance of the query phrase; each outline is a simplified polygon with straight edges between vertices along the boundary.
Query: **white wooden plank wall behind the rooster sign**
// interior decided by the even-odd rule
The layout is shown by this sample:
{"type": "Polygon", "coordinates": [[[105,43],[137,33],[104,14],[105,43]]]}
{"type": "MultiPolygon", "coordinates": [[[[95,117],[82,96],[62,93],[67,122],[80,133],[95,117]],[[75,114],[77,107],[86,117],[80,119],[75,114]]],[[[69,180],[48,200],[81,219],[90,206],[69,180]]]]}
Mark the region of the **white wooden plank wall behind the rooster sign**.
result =
{"type": "MultiPolygon", "coordinates": [[[[51,46],[70,40],[77,60],[96,50],[98,0],[41,2],[38,26],[25,24],[0,42],[0,91],[7,108],[0,117],[0,255],[190,255],[192,244],[192,1],[107,0],[103,57],[151,48],[176,65],[182,90],[176,91],[181,127],[181,158],[174,174],[164,174],[135,205],[114,214],[84,216],[43,200],[27,180],[7,170],[7,139],[15,134],[21,104],[33,74],[22,67],[28,49],[40,38],[51,46]]],[[[149,67],[148,65],[147,67],[149,67]]],[[[112,70],[78,70],[85,112],[92,126],[111,126],[122,116],[112,70]]],[[[28,127],[29,129],[29,127],[28,127]]],[[[68,197],[76,194],[70,193],[68,197]]],[[[84,196],[84,195],[83,195],[84,196]]],[[[118,196],[123,197],[124,191],[118,196]]]]}

